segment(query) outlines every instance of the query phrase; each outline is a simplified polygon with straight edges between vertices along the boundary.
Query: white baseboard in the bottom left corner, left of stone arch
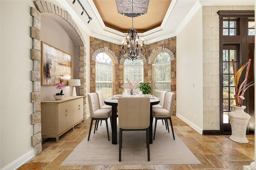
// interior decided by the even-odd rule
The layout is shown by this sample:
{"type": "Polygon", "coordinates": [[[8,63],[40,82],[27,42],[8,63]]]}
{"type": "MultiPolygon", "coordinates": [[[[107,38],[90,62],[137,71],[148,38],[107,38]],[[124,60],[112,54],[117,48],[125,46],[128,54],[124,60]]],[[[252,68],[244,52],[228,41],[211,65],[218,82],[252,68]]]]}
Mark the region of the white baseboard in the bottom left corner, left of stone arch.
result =
{"type": "Polygon", "coordinates": [[[2,168],[1,170],[16,170],[17,168],[22,166],[24,163],[26,163],[28,160],[30,160],[34,156],[35,156],[35,150],[32,149],[29,152],[27,152],[26,154],[20,156],[20,158],[14,160],[12,163],[10,163],[7,166],[5,166],[4,168],[2,168]]]}

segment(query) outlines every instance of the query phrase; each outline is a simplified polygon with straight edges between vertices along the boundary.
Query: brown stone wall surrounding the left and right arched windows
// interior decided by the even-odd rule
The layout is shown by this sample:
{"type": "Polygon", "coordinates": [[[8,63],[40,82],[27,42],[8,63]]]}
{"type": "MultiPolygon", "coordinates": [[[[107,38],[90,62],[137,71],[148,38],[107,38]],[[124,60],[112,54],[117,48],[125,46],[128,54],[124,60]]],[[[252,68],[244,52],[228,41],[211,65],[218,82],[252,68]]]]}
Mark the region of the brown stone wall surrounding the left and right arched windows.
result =
{"type": "MultiPolygon", "coordinates": [[[[151,43],[144,46],[144,82],[152,83],[152,60],[160,52],[166,52],[171,57],[171,91],[176,94],[176,37],[168,38],[160,42],[151,43]]],[[[110,43],[98,38],[90,37],[90,92],[95,92],[95,57],[100,52],[110,53],[115,60],[114,84],[115,94],[121,94],[124,89],[124,59],[119,52],[121,45],[110,43]],[[110,52],[112,51],[112,53],[110,52]]],[[[174,101],[173,115],[176,115],[176,97],[174,101]]]]}

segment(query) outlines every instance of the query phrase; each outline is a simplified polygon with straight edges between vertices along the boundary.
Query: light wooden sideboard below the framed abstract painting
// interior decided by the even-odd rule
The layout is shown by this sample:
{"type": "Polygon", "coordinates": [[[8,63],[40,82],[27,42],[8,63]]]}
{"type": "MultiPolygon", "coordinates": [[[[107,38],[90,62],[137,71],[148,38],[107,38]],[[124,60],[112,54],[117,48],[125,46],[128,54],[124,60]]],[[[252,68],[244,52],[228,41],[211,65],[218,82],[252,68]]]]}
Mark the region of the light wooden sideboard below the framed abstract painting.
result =
{"type": "Polygon", "coordinates": [[[84,121],[84,96],[41,102],[42,138],[56,138],[84,121]]]}

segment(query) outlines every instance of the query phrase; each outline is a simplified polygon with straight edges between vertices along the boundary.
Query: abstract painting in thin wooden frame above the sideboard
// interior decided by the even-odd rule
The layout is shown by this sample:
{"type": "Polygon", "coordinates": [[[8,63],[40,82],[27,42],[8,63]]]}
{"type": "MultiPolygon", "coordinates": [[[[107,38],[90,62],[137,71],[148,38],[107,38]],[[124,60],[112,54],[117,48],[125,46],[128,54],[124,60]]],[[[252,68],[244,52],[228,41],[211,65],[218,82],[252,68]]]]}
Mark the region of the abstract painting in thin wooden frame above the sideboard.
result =
{"type": "Polygon", "coordinates": [[[41,41],[41,57],[41,85],[67,85],[71,79],[71,54],[41,41]]]}

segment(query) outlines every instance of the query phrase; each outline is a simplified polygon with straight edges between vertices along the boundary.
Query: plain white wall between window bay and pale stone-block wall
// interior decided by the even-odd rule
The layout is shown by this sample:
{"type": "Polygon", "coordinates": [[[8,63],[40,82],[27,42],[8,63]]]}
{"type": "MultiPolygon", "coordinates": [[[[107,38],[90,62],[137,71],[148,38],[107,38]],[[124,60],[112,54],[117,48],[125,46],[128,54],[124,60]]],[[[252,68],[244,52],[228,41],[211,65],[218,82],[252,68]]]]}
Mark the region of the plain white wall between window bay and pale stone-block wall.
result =
{"type": "Polygon", "coordinates": [[[176,37],[176,115],[201,134],[203,130],[202,39],[201,7],[176,37]]]}

